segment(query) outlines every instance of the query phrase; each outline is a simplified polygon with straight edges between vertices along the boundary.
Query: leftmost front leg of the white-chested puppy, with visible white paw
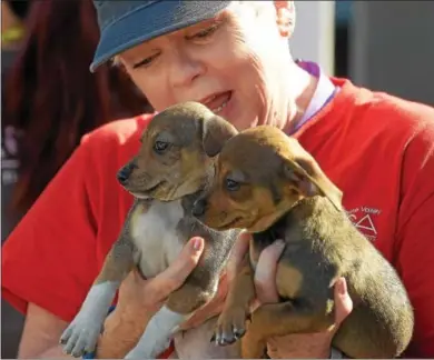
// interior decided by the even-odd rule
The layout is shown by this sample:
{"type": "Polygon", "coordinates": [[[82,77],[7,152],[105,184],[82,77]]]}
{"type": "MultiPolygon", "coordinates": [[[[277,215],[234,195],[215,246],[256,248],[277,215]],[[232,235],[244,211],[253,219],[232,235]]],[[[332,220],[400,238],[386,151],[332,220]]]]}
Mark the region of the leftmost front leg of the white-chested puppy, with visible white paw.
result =
{"type": "Polygon", "coordinates": [[[116,291],[132,267],[134,244],[124,230],[108,253],[80,311],[60,338],[66,353],[78,358],[95,350],[116,291]]]}

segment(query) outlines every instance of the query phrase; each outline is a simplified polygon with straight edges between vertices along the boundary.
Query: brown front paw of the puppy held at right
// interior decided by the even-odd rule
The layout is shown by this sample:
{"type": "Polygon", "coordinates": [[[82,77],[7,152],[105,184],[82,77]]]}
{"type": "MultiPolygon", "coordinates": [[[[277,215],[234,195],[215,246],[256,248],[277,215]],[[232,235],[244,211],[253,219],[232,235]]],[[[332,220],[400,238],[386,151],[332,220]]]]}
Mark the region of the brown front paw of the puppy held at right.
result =
{"type": "Polygon", "coordinates": [[[231,344],[243,338],[250,313],[245,307],[226,308],[219,316],[211,342],[218,346],[231,344]]]}

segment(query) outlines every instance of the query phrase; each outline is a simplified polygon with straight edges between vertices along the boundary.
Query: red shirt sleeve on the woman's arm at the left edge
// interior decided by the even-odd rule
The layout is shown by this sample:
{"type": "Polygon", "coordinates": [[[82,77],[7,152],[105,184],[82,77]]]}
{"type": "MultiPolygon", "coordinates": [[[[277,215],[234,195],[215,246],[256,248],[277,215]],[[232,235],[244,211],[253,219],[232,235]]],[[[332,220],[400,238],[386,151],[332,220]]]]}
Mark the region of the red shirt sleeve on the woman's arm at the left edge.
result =
{"type": "Polygon", "coordinates": [[[32,302],[71,321],[98,273],[90,152],[78,147],[2,248],[2,297],[21,312],[32,302]]]}

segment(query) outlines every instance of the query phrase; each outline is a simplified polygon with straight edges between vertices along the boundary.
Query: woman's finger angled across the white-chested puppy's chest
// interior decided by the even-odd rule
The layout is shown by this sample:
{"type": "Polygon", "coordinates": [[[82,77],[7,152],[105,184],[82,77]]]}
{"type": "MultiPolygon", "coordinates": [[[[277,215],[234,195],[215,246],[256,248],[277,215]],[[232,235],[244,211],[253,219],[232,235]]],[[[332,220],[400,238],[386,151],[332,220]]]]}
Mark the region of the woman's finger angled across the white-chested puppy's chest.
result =
{"type": "Polygon", "coordinates": [[[166,299],[184,283],[199,262],[204,244],[203,238],[190,239],[169,268],[147,281],[146,292],[152,302],[166,299]]]}

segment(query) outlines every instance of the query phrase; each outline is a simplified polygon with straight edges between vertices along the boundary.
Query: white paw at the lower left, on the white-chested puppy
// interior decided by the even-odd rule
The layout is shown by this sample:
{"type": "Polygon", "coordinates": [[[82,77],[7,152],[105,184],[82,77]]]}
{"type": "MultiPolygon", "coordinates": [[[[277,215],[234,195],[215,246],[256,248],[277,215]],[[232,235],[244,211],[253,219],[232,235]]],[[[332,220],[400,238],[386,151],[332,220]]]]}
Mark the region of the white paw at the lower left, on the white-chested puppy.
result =
{"type": "Polygon", "coordinates": [[[60,343],[63,351],[75,358],[92,352],[101,332],[102,324],[90,319],[76,318],[63,331],[60,343]]]}

